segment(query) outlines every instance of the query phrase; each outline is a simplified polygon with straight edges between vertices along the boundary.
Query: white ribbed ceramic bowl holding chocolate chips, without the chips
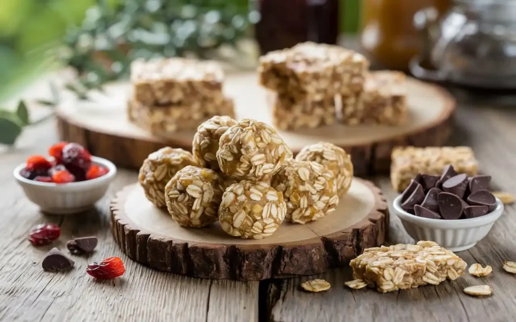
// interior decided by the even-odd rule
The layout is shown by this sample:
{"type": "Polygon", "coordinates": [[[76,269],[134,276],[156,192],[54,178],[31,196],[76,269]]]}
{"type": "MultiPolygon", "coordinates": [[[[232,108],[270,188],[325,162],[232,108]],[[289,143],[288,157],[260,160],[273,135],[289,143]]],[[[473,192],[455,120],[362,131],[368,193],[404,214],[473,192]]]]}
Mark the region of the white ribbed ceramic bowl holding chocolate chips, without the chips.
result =
{"type": "Polygon", "coordinates": [[[502,215],[504,205],[496,198],[496,208],[481,217],[471,219],[430,219],[412,215],[401,209],[401,195],[393,206],[405,230],[415,241],[433,241],[451,251],[470,249],[482,240],[502,215]]]}

